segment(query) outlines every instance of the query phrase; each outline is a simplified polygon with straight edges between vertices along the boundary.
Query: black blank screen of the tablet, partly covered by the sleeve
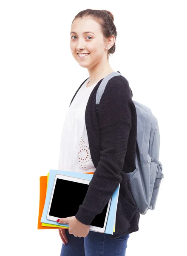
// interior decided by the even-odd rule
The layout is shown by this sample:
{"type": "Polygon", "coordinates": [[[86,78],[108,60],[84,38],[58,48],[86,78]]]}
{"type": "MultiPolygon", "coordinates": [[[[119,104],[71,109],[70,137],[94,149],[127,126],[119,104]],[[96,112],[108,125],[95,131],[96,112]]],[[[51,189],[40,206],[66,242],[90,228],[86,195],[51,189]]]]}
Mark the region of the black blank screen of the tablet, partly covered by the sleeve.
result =
{"type": "MultiPolygon", "coordinates": [[[[75,216],[79,205],[84,201],[88,186],[88,184],[57,178],[49,215],[59,218],[75,216]]],[[[107,208],[108,203],[103,211],[95,216],[90,225],[103,228],[107,208]]]]}

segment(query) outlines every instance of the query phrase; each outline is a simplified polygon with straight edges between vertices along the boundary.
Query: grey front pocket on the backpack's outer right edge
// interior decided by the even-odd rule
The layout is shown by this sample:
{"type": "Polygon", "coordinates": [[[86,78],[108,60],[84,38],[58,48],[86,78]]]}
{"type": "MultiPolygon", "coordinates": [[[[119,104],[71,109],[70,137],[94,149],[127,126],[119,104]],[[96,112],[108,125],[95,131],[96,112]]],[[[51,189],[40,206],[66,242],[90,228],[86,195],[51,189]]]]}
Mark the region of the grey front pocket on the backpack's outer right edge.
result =
{"type": "Polygon", "coordinates": [[[150,206],[149,209],[153,210],[155,209],[156,206],[156,201],[159,195],[159,189],[160,189],[160,184],[161,184],[161,180],[164,179],[164,174],[162,172],[162,164],[159,161],[158,166],[157,166],[157,173],[156,173],[156,179],[155,179],[155,183],[153,186],[153,194],[150,200],[150,206]]]}

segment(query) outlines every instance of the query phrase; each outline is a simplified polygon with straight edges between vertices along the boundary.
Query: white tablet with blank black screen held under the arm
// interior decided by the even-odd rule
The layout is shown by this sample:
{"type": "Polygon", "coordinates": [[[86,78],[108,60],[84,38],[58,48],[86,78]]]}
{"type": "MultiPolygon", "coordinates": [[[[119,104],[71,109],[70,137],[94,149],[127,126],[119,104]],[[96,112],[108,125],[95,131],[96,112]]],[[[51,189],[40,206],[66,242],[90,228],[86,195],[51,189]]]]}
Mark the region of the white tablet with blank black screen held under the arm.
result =
{"type": "MultiPolygon", "coordinates": [[[[90,180],[57,174],[51,193],[47,219],[57,221],[58,218],[75,216],[79,210],[79,205],[84,201],[89,183],[90,180]]],[[[105,232],[111,199],[112,197],[103,211],[95,216],[90,224],[90,230],[105,232]]]]}

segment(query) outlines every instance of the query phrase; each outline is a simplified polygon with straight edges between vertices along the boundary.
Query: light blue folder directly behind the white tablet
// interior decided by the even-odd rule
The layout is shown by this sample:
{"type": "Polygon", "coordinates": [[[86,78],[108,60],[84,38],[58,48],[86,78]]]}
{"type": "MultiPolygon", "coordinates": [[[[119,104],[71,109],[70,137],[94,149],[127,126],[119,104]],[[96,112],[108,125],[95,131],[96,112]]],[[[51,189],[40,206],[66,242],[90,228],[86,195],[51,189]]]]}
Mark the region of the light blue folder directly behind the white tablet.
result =
{"type": "MultiPolygon", "coordinates": [[[[42,218],[41,218],[40,222],[47,223],[47,224],[57,224],[57,225],[63,226],[63,227],[69,227],[68,224],[64,224],[64,223],[59,224],[56,221],[49,221],[46,218],[50,199],[51,199],[51,193],[52,193],[52,189],[53,189],[53,185],[54,185],[54,180],[55,180],[55,176],[57,174],[82,178],[82,179],[86,179],[86,180],[91,180],[93,177],[93,174],[85,174],[85,173],[80,173],[80,172],[67,172],[67,171],[59,171],[59,170],[50,170],[49,171],[48,188],[47,188],[47,193],[46,193],[46,198],[45,198],[44,209],[42,212],[42,218]]],[[[106,228],[105,228],[105,232],[104,232],[106,234],[113,235],[113,227],[114,227],[114,224],[116,221],[116,210],[117,210],[117,204],[118,204],[119,187],[120,187],[120,184],[116,188],[116,190],[114,191],[114,193],[112,195],[111,206],[110,206],[109,213],[108,213],[108,220],[107,220],[107,224],[106,224],[106,228]]],[[[90,230],[90,231],[93,231],[93,230],[90,230]]],[[[96,231],[94,231],[94,232],[96,232],[96,231]]]]}

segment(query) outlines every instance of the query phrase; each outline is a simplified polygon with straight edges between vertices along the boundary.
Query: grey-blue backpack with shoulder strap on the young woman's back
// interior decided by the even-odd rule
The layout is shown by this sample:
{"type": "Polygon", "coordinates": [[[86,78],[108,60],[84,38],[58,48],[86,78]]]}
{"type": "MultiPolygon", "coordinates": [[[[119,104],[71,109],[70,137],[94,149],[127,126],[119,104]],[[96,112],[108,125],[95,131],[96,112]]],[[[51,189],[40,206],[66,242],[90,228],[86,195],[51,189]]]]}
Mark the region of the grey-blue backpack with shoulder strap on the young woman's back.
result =
{"type": "MultiPolygon", "coordinates": [[[[108,81],[113,76],[122,76],[113,72],[105,76],[96,93],[96,110],[108,81]]],[[[160,134],[159,125],[150,108],[133,100],[137,113],[136,169],[128,172],[133,199],[142,215],[148,209],[155,209],[161,180],[164,180],[162,164],[159,161],[160,134]]]]}

